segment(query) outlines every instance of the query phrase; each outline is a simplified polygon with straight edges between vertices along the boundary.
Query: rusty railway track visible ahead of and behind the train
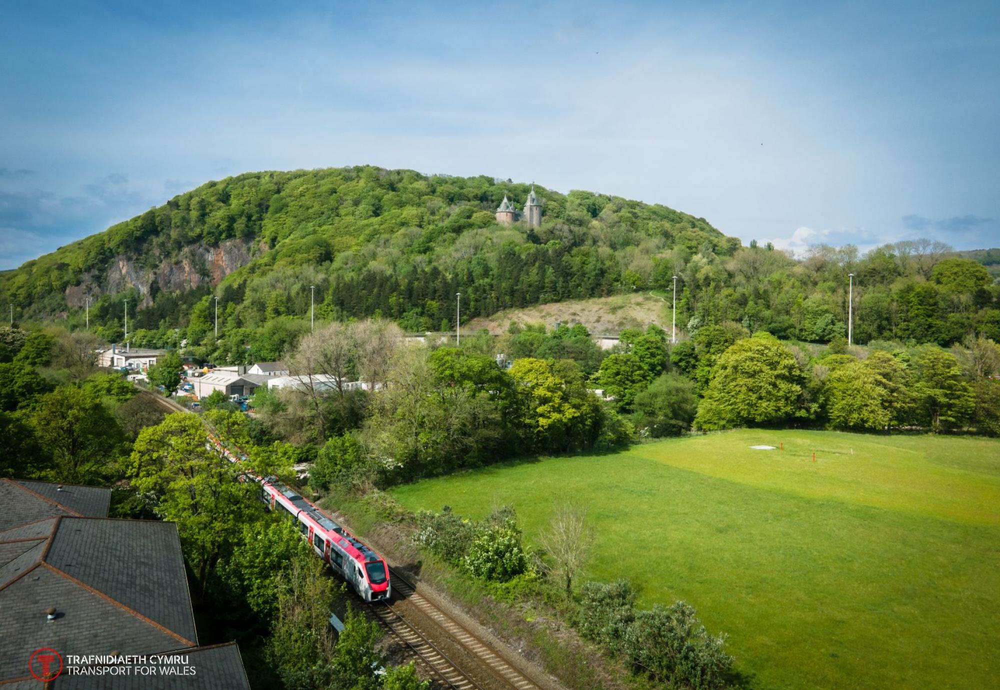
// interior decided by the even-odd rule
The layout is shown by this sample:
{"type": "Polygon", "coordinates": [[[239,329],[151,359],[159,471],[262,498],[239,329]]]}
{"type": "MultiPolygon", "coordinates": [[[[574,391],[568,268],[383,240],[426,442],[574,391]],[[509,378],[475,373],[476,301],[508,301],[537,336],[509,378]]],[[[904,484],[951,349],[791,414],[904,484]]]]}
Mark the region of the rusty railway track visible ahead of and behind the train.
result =
{"type": "MultiPolygon", "coordinates": [[[[156,401],[171,412],[191,412],[177,403],[167,400],[151,391],[156,401]]],[[[425,675],[444,688],[452,690],[542,690],[535,681],[517,669],[510,661],[497,653],[493,647],[478,635],[459,623],[441,607],[417,591],[414,585],[397,568],[389,568],[392,580],[393,601],[367,606],[368,610],[391,637],[409,652],[425,675]],[[416,621],[411,621],[399,611],[398,604],[406,601],[433,624],[437,630],[422,632],[416,621]],[[450,642],[462,652],[462,659],[456,662],[443,649],[442,639],[450,642]],[[435,641],[436,640],[436,641],[435,641]],[[465,658],[467,657],[467,659],[465,658]],[[475,673],[472,667],[478,667],[475,673]],[[496,682],[488,682],[483,675],[496,682]],[[479,678],[477,680],[477,678],[479,678]]]]}

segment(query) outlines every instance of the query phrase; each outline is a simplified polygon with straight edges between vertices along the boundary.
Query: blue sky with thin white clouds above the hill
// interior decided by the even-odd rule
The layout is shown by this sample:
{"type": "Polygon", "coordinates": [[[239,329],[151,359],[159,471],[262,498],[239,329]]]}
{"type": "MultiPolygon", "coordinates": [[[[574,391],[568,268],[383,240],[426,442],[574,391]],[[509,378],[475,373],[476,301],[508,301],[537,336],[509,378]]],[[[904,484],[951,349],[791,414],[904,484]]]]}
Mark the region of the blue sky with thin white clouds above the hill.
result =
{"type": "Polygon", "coordinates": [[[745,242],[1000,245],[1000,3],[0,0],[0,268],[210,179],[371,163],[745,242]]]}

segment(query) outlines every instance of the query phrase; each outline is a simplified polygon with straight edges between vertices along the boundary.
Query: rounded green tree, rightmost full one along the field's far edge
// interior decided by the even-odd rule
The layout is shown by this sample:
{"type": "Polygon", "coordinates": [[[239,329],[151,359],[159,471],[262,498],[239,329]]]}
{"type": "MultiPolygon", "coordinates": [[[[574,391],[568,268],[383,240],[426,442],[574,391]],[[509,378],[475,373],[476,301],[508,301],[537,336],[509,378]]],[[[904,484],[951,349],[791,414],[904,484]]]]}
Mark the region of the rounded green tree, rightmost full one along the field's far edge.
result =
{"type": "Polygon", "coordinates": [[[934,345],[913,357],[914,392],[925,424],[935,432],[965,426],[975,411],[972,387],[955,356],[934,345]]]}

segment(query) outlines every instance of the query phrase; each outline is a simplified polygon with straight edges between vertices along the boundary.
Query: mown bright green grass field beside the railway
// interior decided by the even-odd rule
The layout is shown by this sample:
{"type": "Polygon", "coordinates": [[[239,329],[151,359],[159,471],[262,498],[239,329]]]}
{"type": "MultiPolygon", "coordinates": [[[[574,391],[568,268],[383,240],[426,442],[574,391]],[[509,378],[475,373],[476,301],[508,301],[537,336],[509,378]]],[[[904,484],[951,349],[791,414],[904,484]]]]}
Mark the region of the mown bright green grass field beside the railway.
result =
{"type": "Polygon", "coordinates": [[[393,494],[511,503],[529,541],[555,500],[587,505],[587,579],[688,601],[756,688],[1000,687],[1000,441],[743,430],[393,494]]]}

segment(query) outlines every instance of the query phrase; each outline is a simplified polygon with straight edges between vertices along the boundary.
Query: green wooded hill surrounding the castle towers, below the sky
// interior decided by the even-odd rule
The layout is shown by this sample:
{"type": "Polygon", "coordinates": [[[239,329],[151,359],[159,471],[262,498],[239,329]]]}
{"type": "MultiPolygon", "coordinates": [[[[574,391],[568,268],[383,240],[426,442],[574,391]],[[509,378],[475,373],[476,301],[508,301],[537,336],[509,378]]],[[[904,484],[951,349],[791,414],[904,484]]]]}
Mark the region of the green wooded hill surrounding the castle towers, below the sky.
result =
{"type": "Polygon", "coordinates": [[[949,344],[1000,339],[998,289],[974,259],[931,242],[860,256],[819,247],[795,261],[743,247],[705,219],[661,205],[536,185],[542,226],[502,227],[493,211],[529,186],[480,176],[376,167],[248,173],[0,274],[21,320],[83,324],[107,340],[176,345],[219,360],[273,359],[318,319],[382,316],[405,330],[454,328],[501,309],[637,290],[678,275],[678,323],[735,321],[782,338],[846,333],[856,275],[855,338],[949,344]],[[219,298],[219,340],[213,302],[219,298]],[[249,348],[247,347],[249,346],[249,348]]]}

